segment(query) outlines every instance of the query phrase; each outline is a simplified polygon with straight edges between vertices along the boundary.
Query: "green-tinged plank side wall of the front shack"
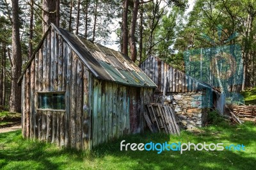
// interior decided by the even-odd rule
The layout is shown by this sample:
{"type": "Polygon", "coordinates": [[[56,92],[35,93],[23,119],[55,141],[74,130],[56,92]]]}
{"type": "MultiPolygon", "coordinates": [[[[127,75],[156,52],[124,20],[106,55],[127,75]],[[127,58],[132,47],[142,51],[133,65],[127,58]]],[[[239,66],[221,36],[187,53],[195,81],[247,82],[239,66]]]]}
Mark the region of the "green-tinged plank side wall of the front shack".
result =
{"type": "Polygon", "coordinates": [[[93,79],[92,144],[143,131],[144,105],[153,101],[153,90],[93,79]]]}

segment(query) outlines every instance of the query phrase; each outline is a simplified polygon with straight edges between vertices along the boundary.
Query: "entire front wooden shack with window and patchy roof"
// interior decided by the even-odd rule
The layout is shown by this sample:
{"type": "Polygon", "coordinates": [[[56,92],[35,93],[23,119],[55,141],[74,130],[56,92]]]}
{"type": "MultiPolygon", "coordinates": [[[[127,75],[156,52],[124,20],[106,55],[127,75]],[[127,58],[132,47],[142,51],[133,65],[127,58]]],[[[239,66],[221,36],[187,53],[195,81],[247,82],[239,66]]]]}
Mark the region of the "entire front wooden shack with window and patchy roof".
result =
{"type": "Polygon", "coordinates": [[[156,88],[124,54],[54,24],[19,84],[22,135],[79,150],[143,131],[156,88]]]}

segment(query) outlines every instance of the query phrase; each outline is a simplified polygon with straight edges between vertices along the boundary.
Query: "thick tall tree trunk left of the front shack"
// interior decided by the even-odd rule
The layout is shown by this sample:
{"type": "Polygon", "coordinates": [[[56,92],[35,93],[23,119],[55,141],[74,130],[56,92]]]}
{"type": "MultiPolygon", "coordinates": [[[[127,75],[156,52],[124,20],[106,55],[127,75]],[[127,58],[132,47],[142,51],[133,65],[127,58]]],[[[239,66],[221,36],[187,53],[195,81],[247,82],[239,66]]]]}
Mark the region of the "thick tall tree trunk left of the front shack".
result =
{"type": "Polygon", "coordinates": [[[20,112],[21,88],[17,82],[21,73],[21,49],[19,33],[19,0],[12,0],[12,79],[10,112],[20,112]]]}

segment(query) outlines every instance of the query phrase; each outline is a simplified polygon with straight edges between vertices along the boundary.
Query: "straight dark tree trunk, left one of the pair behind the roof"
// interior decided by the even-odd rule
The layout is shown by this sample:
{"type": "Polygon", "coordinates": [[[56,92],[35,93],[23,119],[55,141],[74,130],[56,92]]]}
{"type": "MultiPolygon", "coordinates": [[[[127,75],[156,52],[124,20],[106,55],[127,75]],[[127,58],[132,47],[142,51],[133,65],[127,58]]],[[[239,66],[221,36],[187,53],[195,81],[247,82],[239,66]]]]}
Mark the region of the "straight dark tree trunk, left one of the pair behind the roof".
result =
{"type": "Polygon", "coordinates": [[[122,53],[128,55],[128,0],[123,1],[122,53]]]}

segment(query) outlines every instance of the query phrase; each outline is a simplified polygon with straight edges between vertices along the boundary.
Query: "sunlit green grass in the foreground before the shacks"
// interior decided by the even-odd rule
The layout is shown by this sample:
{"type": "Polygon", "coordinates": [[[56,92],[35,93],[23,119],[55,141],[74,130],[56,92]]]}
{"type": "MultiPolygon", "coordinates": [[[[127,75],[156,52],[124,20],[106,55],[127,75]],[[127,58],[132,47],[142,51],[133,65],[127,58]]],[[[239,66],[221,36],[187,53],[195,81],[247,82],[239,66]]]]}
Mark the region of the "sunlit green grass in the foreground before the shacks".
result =
{"type": "Polygon", "coordinates": [[[54,144],[22,139],[20,130],[0,134],[0,167],[3,169],[255,169],[256,127],[253,123],[227,123],[201,128],[196,134],[128,135],[93,151],[57,148],[54,144]],[[125,143],[224,143],[244,144],[246,151],[120,151],[125,143]]]}

